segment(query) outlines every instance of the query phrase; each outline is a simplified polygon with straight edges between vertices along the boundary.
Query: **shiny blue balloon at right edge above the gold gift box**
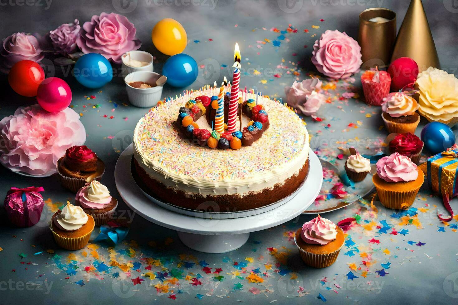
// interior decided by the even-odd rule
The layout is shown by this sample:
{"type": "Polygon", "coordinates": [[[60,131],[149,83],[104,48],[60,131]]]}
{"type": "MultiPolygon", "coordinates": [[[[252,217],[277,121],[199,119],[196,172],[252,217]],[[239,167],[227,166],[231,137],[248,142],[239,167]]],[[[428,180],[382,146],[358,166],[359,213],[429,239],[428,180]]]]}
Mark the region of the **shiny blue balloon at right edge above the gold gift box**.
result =
{"type": "Polygon", "coordinates": [[[421,130],[421,140],[425,143],[425,149],[436,155],[455,144],[455,134],[447,124],[431,122],[421,130]]]}

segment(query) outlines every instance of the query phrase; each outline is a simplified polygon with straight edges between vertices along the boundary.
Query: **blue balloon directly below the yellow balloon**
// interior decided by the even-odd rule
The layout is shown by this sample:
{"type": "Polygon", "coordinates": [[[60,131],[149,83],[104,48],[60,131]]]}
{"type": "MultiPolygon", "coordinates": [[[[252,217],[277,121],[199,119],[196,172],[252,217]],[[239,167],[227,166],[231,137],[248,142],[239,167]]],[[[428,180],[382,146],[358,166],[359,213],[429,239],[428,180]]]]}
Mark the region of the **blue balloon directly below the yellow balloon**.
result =
{"type": "Polygon", "coordinates": [[[178,88],[191,85],[197,73],[196,61],[183,53],[171,56],[162,68],[162,74],[167,76],[167,84],[178,88]]]}

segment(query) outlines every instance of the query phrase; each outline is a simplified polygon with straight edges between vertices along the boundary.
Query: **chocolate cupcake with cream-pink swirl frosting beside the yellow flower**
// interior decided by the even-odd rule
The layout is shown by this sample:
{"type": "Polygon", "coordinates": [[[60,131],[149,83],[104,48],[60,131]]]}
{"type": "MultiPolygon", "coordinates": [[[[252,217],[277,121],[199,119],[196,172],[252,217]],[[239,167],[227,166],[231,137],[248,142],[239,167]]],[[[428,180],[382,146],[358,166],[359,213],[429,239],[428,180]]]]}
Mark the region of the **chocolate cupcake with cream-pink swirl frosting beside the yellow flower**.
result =
{"type": "Polygon", "coordinates": [[[417,110],[418,103],[413,97],[403,92],[388,94],[382,104],[382,118],[388,132],[390,134],[406,132],[414,134],[420,123],[420,115],[416,112],[417,110]]]}

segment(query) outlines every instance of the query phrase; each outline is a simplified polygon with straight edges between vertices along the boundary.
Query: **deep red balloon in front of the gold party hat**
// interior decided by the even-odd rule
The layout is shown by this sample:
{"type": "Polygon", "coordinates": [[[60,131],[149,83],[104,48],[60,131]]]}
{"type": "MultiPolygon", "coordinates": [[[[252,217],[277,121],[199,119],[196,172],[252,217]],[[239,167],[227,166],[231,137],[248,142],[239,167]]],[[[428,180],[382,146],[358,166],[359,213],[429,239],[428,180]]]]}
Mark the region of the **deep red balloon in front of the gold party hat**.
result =
{"type": "Polygon", "coordinates": [[[388,68],[391,75],[391,91],[397,92],[407,85],[413,87],[418,76],[418,64],[409,57],[394,60],[388,68]]]}

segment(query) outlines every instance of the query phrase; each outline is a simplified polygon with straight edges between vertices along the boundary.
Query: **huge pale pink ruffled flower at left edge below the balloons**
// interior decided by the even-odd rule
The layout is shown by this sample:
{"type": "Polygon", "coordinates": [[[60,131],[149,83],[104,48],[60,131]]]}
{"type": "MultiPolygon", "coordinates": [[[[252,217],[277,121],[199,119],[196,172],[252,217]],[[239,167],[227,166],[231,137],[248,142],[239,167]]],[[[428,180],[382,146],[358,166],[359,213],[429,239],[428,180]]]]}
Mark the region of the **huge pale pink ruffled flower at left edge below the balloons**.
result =
{"type": "Polygon", "coordinates": [[[56,113],[38,104],[17,108],[0,121],[0,162],[11,171],[49,176],[65,150],[86,141],[80,116],[71,108],[56,113]]]}

